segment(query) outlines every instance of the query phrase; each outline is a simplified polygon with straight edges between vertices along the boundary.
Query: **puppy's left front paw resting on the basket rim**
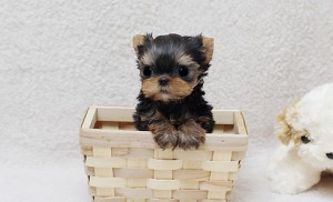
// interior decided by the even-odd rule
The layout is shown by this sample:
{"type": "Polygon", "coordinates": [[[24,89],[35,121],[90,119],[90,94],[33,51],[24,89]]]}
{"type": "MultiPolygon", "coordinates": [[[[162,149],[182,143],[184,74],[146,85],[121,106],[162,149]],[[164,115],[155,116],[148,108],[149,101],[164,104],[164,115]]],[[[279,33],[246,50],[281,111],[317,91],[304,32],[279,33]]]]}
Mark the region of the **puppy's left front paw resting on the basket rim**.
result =
{"type": "Polygon", "coordinates": [[[161,149],[174,149],[178,145],[178,131],[171,124],[152,124],[149,127],[154,134],[154,141],[161,149]]]}

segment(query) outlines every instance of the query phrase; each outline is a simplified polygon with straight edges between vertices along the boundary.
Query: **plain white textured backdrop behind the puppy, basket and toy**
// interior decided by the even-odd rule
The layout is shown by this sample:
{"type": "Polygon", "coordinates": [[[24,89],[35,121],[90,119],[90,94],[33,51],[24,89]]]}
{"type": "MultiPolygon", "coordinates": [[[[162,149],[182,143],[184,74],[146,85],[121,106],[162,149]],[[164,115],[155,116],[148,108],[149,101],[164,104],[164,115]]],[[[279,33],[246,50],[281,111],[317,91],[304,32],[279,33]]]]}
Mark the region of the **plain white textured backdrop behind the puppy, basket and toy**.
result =
{"type": "Polygon", "coordinates": [[[137,103],[132,36],[215,39],[204,89],[240,109],[250,149],[233,201],[331,201],[333,179],[293,196],[270,192],[276,112],[333,80],[333,1],[0,0],[0,201],[90,201],[79,149],[89,105],[137,103]]]}

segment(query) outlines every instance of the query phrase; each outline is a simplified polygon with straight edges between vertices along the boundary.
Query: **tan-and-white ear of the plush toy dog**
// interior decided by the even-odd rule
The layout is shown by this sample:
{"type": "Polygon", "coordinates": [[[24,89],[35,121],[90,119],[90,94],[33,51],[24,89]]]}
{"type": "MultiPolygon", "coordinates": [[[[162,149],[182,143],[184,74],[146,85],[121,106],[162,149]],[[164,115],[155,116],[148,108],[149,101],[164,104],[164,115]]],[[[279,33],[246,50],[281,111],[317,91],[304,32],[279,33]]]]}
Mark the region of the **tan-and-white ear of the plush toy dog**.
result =
{"type": "Polygon", "coordinates": [[[300,100],[294,100],[285,107],[276,117],[274,133],[279,140],[287,145],[290,141],[296,139],[292,123],[297,119],[297,103],[300,100]]]}

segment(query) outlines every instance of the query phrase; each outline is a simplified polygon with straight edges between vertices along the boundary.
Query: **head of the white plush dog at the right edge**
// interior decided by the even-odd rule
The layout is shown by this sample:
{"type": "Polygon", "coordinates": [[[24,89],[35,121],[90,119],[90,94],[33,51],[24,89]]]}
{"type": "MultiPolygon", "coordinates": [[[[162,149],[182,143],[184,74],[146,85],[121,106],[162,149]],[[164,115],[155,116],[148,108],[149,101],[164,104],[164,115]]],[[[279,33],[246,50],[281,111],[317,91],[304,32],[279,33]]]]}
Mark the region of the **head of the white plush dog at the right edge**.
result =
{"type": "Polygon", "coordinates": [[[322,170],[333,169],[333,84],[316,88],[278,115],[275,133],[295,147],[303,161],[322,170]]]}

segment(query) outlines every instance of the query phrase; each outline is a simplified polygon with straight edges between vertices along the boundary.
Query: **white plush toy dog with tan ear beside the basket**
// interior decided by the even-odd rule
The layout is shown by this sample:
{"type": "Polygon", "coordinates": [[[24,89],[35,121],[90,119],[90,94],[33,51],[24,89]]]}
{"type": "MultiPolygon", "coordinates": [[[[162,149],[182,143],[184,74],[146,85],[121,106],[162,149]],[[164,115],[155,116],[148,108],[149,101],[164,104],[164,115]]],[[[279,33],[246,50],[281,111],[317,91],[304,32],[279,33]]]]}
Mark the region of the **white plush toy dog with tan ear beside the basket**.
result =
{"type": "Polygon", "coordinates": [[[333,173],[333,83],[321,85],[284,108],[276,119],[281,145],[269,164],[271,189],[294,194],[333,173]]]}

